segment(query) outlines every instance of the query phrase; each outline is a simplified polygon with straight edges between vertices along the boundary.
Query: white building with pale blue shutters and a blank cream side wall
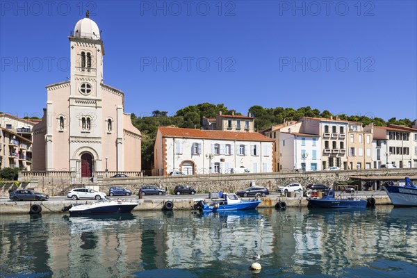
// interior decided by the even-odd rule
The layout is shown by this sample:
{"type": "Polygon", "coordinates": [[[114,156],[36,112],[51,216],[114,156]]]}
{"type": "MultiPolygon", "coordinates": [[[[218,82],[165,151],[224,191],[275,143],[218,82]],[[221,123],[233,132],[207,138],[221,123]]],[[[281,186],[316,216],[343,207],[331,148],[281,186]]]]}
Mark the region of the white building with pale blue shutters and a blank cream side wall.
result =
{"type": "Polygon", "coordinates": [[[321,169],[321,141],[317,134],[284,132],[279,136],[280,171],[321,169]]]}

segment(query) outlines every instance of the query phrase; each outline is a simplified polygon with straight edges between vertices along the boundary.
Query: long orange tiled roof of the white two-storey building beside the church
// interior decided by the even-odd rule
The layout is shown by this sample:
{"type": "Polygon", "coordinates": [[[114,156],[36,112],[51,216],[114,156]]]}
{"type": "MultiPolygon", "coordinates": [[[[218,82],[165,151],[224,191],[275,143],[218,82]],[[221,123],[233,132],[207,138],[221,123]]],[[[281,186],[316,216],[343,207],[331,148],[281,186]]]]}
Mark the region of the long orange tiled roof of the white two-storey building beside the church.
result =
{"type": "Polygon", "coordinates": [[[181,129],[179,127],[167,127],[167,126],[159,126],[158,131],[162,133],[163,137],[174,137],[174,138],[202,138],[202,139],[266,141],[266,142],[275,141],[257,132],[181,129]]]}

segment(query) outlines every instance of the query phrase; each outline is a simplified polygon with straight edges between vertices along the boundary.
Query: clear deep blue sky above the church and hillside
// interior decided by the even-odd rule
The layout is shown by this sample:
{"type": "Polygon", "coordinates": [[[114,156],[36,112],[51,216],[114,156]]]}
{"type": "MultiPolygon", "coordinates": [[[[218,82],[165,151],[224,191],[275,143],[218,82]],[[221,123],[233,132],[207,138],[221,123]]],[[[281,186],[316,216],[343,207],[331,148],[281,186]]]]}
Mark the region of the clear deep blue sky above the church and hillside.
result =
{"type": "Polygon", "coordinates": [[[210,102],[417,118],[416,1],[1,1],[0,111],[42,115],[87,9],[128,113],[210,102]]]}

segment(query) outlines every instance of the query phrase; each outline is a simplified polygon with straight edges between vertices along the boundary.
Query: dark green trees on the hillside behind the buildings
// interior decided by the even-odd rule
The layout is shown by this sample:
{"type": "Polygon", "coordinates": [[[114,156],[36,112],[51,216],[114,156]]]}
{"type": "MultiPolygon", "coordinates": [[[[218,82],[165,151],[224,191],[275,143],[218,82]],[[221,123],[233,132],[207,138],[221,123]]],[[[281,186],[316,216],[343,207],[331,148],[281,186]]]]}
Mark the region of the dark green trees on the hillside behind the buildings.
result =
{"type": "MultiPolygon", "coordinates": [[[[235,113],[235,115],[242,115],[236,113],[234,109],[229,109],[224,104],[197,104],[187,106],[180,109],[174,115],[167,115],[167,111],[153,111],[152,115],[147,117],[136,117],[131,114],[133,125],[136,126],[142,133],[142,169],[151,170],[154,163],[154,142],[156,138],[156,131],[158,126],[177,126],[188,129],[200,129],[202,126],[203,117],[215,117],[219,111],[222,114],[235,113]]],[[[262,106],[252,106],[249,112],[255,118],[255,131],[262,131],[268,129],[275,124],[282,124],[285,121],[300,120],[302,117],[325,117],[330,116],[339,117],[341,120],[349,120],[354,122],[361,122],[363,125],[373,122],[375,126],[386,126],[386,124],[401,124],[404,126],[411,126],[412,120],[400,119],[397,120],[392,117],[388,121],[380,117],[372,117],[371,115],[345,115],[332,114],[327,110],[320,112],[320,110],[310,106],[300,107],[297,110],[294,108],[263,108],[262,106]],[[371,117],[370,117],[371,116],[371,117]]]]}

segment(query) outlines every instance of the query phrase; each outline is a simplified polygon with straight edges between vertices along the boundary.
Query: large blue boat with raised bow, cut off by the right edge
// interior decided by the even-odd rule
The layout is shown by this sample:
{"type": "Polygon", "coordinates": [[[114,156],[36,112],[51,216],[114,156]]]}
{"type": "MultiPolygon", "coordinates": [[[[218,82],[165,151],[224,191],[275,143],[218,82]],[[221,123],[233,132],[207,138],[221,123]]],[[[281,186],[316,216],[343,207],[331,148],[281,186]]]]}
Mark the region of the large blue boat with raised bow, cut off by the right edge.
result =
{"type": "Polygon", "coordinates": [[[405,186],[384,186],[394,206],[417,206],[417,186],[405,178],[405,186]]]}

